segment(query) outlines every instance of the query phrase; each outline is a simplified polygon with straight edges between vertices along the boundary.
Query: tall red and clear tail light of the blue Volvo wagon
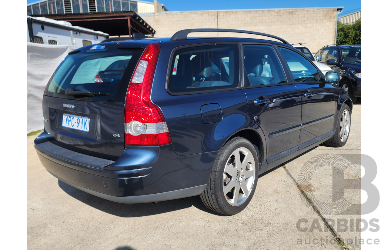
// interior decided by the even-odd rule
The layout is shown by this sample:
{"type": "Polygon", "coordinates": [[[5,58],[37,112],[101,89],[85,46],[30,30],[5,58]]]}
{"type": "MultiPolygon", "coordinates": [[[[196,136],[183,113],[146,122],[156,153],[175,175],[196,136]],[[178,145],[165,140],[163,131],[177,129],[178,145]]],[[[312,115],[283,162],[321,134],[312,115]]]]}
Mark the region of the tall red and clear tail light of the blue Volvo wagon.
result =
{"type": "Polygon", "coordinates": [[[165,117],[151,102],[151,86],[159,51],[158,43],[151,43],[145,48],[129,84],[125,102],[126,145],[171,143],[165,117]]]}

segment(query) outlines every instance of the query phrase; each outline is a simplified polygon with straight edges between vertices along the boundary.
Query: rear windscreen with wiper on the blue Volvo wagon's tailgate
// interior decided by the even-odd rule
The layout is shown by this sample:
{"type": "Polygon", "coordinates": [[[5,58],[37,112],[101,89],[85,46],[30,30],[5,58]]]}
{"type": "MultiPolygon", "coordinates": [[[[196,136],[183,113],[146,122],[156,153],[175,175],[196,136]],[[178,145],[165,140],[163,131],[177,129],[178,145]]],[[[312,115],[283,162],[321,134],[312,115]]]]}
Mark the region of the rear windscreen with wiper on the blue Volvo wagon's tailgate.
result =
{"type": "Polygon", "coordinates": [[[92,45],[70,53],[51,77],[45,95],[98,102],[125,102],[143,49],[92,45]]]}

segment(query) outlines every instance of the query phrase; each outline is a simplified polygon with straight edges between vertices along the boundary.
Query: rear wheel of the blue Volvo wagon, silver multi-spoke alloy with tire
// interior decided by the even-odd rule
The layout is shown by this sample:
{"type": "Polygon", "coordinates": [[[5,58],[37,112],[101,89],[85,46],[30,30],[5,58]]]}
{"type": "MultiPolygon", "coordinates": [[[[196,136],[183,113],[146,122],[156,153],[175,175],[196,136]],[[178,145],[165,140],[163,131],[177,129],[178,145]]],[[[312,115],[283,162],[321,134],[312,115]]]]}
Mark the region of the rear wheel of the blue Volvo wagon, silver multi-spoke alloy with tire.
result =
{"type": "Polygon", "coordinates": [[[255,193],[258,170],[257,147],[245,138],[232,138],[218,152],[207,186],[200,195],[202,202],[221,214],[241,212],[255,193]]]}

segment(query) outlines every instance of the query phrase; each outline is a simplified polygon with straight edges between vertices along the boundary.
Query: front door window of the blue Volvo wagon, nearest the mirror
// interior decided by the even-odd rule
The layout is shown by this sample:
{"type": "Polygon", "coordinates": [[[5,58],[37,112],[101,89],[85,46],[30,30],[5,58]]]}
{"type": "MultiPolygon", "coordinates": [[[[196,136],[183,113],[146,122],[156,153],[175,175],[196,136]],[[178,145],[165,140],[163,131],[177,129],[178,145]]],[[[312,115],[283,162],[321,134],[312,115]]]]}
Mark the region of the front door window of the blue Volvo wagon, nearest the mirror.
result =
{"type": "Polygon", "coordinates": [[[320,75],[317,68],[298,53],[289,50],[288,48],[280,47],[284,59],[294,77],[295,82],[311,82],[320,81],[320,75]]]}

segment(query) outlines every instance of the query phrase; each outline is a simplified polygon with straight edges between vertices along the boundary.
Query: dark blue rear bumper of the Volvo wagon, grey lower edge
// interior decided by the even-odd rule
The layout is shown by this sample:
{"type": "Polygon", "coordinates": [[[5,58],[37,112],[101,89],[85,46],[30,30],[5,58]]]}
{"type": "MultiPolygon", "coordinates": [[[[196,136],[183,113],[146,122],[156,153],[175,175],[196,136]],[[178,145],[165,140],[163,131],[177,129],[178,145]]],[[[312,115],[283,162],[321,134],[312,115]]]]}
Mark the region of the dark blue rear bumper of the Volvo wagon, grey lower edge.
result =
{"type": "Polygon", "coordinates": [[[92,157],[35,140],[42,165],[59,180],[120,203],[144,203],[199,195],[218,152],[179,156],[172,145],[126,147],[116,161],[92,157]]]}

